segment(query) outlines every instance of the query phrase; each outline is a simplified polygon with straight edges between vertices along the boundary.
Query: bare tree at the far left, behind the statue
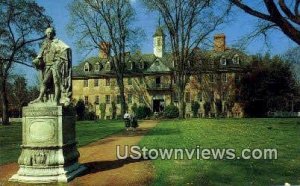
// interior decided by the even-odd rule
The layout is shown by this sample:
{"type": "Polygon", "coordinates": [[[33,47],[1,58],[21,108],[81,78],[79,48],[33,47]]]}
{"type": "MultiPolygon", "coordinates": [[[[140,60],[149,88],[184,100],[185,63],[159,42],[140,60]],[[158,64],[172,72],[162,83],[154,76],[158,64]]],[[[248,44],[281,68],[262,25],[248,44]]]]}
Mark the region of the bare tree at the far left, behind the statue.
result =
{"type": "Polygon", "coordinates": [[[32,0],[0,0],[0,97],[2,123],[9,124],[7,79],[14,64],[31,66],[34,44],[51,23],[44,8],[32,0]]]}

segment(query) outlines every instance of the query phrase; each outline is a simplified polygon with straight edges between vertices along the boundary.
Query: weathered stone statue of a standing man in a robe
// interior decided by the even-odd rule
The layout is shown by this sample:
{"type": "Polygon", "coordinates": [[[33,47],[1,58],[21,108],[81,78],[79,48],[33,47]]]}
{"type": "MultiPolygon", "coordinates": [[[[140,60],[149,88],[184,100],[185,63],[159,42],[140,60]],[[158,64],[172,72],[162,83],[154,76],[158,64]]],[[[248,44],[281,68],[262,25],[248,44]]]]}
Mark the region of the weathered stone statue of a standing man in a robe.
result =
{"type": "Polygon", "coordinates": [[[33,64],[41,74],[40,94],[31,103],[54,102],[57,105],[68,105],[72,94],[71,49],[55,38],[53,27],[47,28],[45,34],[46,39],[41,51],[33,60],[33,64]]]}

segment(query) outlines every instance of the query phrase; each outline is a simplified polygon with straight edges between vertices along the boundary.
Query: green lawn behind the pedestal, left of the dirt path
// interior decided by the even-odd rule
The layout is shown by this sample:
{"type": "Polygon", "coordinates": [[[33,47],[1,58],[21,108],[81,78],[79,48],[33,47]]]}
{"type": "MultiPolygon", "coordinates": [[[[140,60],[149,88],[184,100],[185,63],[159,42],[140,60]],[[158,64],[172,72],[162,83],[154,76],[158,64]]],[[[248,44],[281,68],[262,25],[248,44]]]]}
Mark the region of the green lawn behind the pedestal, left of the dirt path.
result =
{"type": "MultiPolygon", "coordinates": [[[[78,146],[117,133],[124,128],[123,121],[101,120],[80,121],[76,123],[76,136],[78,146]]],[[[22,142],[22,125],[14,123],[9,126],[0,125],[0,165],[16,162],[20,156],[22,142]]]]}

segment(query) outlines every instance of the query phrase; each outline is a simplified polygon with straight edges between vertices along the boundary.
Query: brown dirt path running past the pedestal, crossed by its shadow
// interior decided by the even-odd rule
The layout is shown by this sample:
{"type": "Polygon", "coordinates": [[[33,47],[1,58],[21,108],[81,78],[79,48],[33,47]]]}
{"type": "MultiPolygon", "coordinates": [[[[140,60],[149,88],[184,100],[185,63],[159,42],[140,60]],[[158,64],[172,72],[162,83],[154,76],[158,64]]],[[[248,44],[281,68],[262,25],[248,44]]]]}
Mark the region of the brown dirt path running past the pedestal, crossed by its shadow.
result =
{"type": "MultiPolygon", "coordinates": [[[[88,171],[69,185],[149,185],[153,178],[153,167],[149,160],[118,160],[116,147],[136,145],[142,137],[157,124],[157,121],[144,121],[137,131],[124,131],[79,148],[79,162],[88,171]]],[[[123,153],[121,153],[123,155],[123,153]]],[[[11,185],[7,180],[18,171],[18,164],[0,166],[0,185],[11,185]]]]}

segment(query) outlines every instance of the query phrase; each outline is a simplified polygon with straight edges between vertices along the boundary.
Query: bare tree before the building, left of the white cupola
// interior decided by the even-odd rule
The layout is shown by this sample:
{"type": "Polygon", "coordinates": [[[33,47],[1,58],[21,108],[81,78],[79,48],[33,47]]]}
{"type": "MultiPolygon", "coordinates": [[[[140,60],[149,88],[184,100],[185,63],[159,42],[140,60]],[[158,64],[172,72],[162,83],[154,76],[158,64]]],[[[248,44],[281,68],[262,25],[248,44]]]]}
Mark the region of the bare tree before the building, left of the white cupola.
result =
{"type": "Polygon", "coordinates": [[[137,36],[132,27],[134,9],[129,0],[79,0],[70,6],[70,30],[78,38],[79,46],[89,50],[103,50],[100,43],[112,49],[112,67],[116,74],[121,98],[121,114],[125,113],[124,71],[126,50],[137,36]]]}

